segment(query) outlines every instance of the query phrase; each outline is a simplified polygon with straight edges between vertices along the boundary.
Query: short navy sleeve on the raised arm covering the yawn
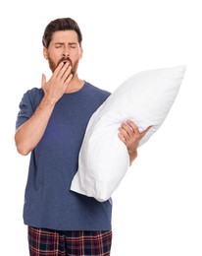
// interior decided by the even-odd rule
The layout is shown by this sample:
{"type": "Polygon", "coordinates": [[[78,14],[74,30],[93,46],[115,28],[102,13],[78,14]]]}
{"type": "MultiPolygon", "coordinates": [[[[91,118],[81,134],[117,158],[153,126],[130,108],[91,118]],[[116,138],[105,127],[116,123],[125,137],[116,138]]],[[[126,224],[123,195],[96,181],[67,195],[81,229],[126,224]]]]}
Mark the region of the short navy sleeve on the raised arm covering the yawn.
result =
{"type": "Polygon", "coordinates": [[[16,130],[27,121],[34,113],[42,98],[42,90],[32,89],[27,91],[19,104],[19,113],[16,121],[16,130]]]}

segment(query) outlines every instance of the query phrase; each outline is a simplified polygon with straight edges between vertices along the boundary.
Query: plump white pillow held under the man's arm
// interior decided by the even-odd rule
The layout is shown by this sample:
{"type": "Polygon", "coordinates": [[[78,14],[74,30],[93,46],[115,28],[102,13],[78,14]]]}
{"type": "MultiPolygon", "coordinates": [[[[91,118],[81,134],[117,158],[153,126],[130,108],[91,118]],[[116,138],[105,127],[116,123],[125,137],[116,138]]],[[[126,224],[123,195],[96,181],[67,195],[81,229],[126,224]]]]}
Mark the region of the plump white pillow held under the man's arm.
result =
{"type": "Polygon", "coordinates": [[[140,131],[152,125],[139,146],[147,142],[169,113],[184,72],[181,65],[137,73],[107,98],[87,125],[71,190],[100,202],[111,197],[129,166],[118,128],[127,119],[140,131]]]}

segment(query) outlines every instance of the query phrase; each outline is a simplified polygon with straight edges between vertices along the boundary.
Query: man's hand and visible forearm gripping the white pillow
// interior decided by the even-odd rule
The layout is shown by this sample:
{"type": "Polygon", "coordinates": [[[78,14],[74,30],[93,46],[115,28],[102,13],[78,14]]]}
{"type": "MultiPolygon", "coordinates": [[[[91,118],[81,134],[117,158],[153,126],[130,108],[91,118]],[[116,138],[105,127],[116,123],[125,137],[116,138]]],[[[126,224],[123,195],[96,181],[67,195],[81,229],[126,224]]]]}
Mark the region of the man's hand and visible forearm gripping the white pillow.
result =
{"type": "Polygon", "coordinates": [[[150,128],[151,126],[140,133],[138,127],[130,120],[127,120],[126,123],[123,123],[119,128],[120,133],[118,136],[120,140],[126,145],[130,165],[132,161],[137,157],[137,148],[140,140],[144,137],[150,128]]]}

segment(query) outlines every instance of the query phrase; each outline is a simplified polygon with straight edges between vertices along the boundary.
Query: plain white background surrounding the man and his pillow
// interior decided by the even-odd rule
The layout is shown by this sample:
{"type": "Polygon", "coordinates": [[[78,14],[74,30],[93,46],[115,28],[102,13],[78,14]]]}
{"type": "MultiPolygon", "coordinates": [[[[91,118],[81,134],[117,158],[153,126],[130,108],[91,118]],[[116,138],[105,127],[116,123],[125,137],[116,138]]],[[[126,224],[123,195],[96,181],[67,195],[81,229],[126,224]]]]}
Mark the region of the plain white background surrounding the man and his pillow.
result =
{"type": "Polygon", "coordinates": [[[0,6],[0,227],[4,256],[27,256],[28,157],[15,121],[26,90],[50,75],[41,37],[56,18],[83,33],[78,74],[113,91],[130,75],[186,64],[177,100],[114,193],[112,256],[202,255],[202,7],[197,0],[6,1],[0,6]],[[36,2],[36,3],[35,3],[36,2]]]}

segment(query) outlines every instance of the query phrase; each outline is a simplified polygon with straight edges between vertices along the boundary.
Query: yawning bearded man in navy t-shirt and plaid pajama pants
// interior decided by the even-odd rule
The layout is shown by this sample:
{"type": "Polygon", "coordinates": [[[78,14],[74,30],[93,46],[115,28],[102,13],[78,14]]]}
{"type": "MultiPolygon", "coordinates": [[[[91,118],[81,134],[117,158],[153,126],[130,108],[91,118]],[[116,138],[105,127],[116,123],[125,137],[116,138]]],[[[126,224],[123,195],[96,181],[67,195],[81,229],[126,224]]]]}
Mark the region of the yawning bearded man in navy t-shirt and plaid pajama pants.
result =
{"type": "MultiPolygon", "coordinates": [[[[110,96],[78,78],[81,41],[73,19],[50,22],[42,42],[53,74],[48,81],[42,75],[42,89],[28,90],[20,103],[15,141],[20,154],[31,153],[24,207],[31,256],[110,255],[111,200],[70,191],[88,120],[110,96]]],[[[130,163],[147,130],[139,133],[129,120],[121,124],[130,163]]]]}

